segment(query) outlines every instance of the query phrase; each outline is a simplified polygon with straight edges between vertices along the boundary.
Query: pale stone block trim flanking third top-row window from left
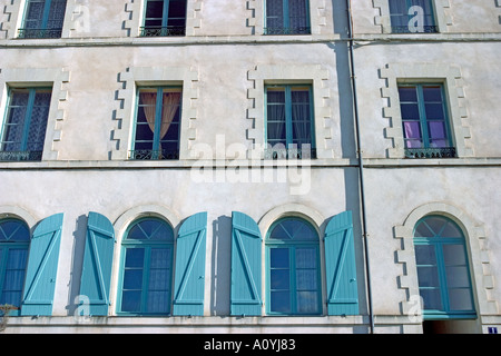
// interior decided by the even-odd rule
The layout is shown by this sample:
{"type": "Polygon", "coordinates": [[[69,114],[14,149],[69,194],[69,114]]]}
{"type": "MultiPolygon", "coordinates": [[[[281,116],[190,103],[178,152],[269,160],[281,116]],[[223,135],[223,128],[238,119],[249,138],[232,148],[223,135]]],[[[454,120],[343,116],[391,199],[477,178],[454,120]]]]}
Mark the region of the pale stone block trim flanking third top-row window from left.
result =
{"type": "MultiPolygon", "coordinates": [[[[265,1],[247,0],[247,27],[253,34],[263,34],[265,27],[265,1]]],[[[324,34],[327,31],[327,8],[326,0],[310,0],[310,21],[312,34],[324,34]]]]}

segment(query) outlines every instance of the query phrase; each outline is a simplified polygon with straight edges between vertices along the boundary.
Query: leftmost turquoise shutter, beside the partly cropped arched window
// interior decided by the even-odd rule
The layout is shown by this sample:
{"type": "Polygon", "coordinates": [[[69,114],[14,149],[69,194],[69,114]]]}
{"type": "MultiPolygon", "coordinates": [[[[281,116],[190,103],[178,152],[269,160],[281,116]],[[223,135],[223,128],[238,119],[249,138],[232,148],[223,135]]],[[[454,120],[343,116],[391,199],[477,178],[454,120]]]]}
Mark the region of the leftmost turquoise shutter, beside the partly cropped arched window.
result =
{"type": "Polygon", "coordinates": [[[52,314],[62,214],[42,220],[30,243],[21,315],[50,316],[52,314]]]}

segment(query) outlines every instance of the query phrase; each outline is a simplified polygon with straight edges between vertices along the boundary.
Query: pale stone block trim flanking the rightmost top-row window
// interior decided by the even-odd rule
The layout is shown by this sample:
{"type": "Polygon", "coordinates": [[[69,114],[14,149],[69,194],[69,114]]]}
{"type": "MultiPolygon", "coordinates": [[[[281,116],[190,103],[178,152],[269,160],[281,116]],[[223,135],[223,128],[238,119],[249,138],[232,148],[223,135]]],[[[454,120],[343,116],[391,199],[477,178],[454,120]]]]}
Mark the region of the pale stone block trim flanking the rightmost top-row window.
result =
{"type": "MultiPolygon", "coordinates": [[[[374,17],[374,24],[381,27],[382,33],[392,33],[387,0],[373,0],[372,3],[374,9],[379,10],[379,14],[374,17]]],[[[452,24],[452,17],[449,13],[449,8],[451,7],[449,0],[435,0],[433,4],[439,32],[449,32],[448,27],[452,24]]],[[[412,34],[415,36],[419,33],[412,34]]]]}

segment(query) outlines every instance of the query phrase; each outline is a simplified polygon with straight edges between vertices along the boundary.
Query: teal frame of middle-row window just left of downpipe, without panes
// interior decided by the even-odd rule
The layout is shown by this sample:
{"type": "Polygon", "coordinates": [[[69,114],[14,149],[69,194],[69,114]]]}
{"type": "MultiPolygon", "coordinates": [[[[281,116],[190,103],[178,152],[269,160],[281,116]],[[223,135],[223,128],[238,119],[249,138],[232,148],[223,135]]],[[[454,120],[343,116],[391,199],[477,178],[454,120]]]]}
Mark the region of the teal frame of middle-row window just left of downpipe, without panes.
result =
{"type": "MultiPolygon", "coordinates": [[[[264,141],[266,145],[265,149],[265,159],[276,159],[276,158],[303,158],[303,151],[302,147],[295,147],[293,142],[293,101],[292,101],[292,91],[294,88],[307,88],[308,91],[308,105],[310,105],[310,132],[311,132],[311,147],[310,147],[310,157],[305,156],[304,158],[316,158],[316,140],[315,140],[315,111],[314,111],[314,102],[313,102],[313,87],[311,83],[287,83],[287,85],[281,85],[281,83],[267,83],[265,85],[265,92],[264,92],[264,141]],[[276,148],[269,147],[268,145],[268,89],[281,89],[284,88],[284,96],[285,96],[285,154],[281,154],[279,151],[276,151],[276,148]],[[297,150],[294,151],[294,150],[297,150]],[[291,157],[292,155],[292,157],[291,157]]],[[[305,145],[305,144],[302,144],[305,145]]],[[[307,145],[307,144],[306,144],[307,145]]]]}

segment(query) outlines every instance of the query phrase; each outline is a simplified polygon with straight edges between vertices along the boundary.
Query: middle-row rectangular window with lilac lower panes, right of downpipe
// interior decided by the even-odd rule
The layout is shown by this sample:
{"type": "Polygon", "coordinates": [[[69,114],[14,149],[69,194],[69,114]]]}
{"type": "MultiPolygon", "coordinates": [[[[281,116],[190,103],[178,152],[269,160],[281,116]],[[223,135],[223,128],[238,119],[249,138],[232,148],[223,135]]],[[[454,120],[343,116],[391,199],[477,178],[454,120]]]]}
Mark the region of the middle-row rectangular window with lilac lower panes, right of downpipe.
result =
{"type": "Polygon", "coordinates": [[[442,85],[400,85],[406,158],[456,157],[442,85]]]}

